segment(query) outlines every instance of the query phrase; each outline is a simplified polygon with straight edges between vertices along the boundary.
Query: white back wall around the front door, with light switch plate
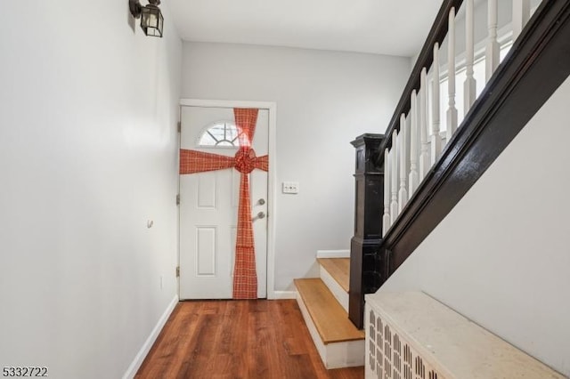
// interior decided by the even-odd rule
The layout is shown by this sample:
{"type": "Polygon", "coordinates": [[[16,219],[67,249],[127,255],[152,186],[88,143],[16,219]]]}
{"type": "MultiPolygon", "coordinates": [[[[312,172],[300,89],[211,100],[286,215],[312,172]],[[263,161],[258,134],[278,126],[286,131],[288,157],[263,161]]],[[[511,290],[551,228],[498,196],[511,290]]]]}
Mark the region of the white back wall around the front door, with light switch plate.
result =
{"type": "Polygon", "coordinates": [[[410,60],[239,44],[183,44],[183,98],[277,102],[275,288],[315,275],[319,249],[348,249],[354,228],[354,148],[383,133],[410,60]]]}

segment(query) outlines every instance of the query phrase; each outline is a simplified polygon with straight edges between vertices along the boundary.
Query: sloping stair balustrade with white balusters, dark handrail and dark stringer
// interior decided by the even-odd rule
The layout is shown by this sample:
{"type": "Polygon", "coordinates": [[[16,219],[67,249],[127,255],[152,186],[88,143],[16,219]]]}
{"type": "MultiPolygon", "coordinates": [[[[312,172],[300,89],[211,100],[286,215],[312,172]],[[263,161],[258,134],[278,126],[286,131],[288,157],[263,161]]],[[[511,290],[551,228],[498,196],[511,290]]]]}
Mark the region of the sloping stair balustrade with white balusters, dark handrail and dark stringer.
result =
{"type": "Polygon", "coordinates": [[[382,166],[376,197],[383,211],[379,246],[369,257],[373,270],[361,275],[362,291],[351,287],[358,298],[349,314],[358,325],[364,294],[394,274],[570,75],[570,2],[511,3],[511,30],[502,28],[501,44],[496,0],[480,3],[487,17],[475,12],[474,0],[444,0],[438,12],[371,158],[382,166]],[[488,30],[477,43],[474,25],[488,30]],[[459,37],[465,41],[457,44],[459,37]],[[501,48],[508,51],[502,60],[501,48]]]}

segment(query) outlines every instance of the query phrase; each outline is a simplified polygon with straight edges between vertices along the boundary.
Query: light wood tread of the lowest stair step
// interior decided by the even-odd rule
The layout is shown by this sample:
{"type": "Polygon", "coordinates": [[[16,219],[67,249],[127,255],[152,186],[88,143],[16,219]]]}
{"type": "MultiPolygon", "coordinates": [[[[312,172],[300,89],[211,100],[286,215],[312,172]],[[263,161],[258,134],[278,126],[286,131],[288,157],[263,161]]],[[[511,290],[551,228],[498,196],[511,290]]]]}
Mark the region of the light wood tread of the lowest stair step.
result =
{"type": "Polygon", "coordinates": [[[364,332],[354,327],[346,310],[320,278],[295,279],[295,286],[323,343],[364,339],[364,332]]]}

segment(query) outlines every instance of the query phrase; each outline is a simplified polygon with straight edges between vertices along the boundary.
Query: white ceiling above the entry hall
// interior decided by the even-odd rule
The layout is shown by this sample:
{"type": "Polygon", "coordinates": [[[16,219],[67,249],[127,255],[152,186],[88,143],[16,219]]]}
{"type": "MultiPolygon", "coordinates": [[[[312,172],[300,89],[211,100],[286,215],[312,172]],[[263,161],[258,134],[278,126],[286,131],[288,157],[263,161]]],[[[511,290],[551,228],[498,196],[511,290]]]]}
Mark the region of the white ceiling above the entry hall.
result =
{"type": "MultiPolygon", "coordinates": [[[[411,57],[441,0],[166,0],[185,41],[411,57]]],[[[165,20],[168,22],[169,20],[165,20]]]]}

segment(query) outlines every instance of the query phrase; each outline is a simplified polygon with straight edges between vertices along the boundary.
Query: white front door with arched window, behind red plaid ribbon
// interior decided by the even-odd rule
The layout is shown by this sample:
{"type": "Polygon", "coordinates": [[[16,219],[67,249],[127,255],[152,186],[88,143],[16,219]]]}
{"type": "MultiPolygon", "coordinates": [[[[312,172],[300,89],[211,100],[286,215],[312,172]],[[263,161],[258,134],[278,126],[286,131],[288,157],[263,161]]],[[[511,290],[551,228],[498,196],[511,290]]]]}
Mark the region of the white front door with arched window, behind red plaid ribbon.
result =
{"type": "MultiPolygon", "coordinates": [[[[181,149],[233,157],[239,140],[232,108],[183,106],[181,149]],[[233,145],[233,146],[232,146],[233,145]]],[[[252,147],[268,153],[269,111],[259,109],[252,147]]],[[[267,291],[267,173],[249,174],[256,249],[257,297],[267,291]]],[[[232,298],[240,194],[234,168],[180,175],[180,298],[232,298]]]]}

